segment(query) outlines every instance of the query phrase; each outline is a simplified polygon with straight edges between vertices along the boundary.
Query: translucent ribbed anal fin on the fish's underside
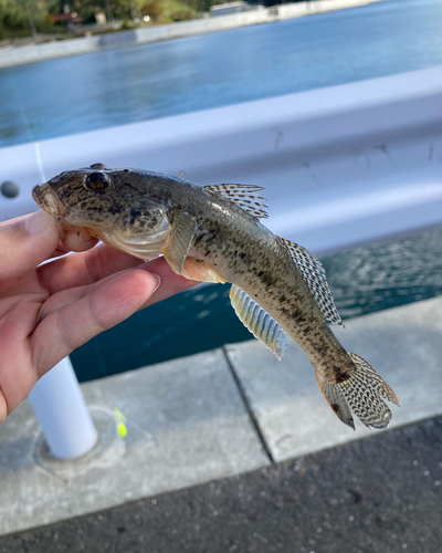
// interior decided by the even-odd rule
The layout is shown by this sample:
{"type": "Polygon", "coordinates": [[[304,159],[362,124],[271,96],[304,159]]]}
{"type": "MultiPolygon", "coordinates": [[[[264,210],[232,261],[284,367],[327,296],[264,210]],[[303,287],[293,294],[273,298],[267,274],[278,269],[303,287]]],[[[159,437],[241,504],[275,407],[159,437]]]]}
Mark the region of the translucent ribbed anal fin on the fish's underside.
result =
{"type": "Polygon", "coordinates": [[[235,284],[230,289],[230,301],[244,326],[281,361],[286,348],[286,335],[277,322],[235,284]]]}

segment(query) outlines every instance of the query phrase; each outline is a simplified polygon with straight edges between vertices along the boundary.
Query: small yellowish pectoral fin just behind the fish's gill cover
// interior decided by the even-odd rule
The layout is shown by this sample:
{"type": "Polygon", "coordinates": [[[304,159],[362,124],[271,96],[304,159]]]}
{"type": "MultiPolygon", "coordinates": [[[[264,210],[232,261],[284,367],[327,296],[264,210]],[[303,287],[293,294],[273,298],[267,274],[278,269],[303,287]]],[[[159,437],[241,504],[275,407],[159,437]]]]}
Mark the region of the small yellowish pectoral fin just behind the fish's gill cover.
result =
{"type": "Polygon", "coordinates": [[[186,257],[193,240],[197,221],[186,211],[177,211],[170,230],[170,236],[162,253],[171,270],[182,274],[186,257]]]}

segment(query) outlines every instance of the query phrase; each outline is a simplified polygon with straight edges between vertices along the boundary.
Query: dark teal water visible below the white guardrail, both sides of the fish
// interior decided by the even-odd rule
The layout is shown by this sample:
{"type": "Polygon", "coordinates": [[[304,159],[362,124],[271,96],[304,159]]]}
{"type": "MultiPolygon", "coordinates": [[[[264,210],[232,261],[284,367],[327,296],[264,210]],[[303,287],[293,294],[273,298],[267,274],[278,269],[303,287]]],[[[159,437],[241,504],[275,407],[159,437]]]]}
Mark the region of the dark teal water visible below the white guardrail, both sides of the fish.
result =
{"type": "MultiPolygon", "coordinates": [[[[322,261],[344,320],[442,294],[442,229],[322,261]]],[[[229,289],[213,284],[183,292],[101,334],[71,355],[78,378],[99,378],[253,338],[230,305],[229,289]]]]}

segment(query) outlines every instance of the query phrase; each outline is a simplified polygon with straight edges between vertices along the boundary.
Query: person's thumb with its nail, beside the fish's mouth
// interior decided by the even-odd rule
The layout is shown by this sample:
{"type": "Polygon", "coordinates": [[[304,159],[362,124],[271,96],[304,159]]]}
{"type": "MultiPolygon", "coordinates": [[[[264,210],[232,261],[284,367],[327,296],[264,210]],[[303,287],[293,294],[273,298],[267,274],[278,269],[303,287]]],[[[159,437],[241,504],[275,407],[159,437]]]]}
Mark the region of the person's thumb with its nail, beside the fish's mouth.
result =
{"type": "Polygon", "coordinates": [[[57,225],[42,210],[1,225],[0,284],[20,278],[45,261],[57,243],[57,225]]]}

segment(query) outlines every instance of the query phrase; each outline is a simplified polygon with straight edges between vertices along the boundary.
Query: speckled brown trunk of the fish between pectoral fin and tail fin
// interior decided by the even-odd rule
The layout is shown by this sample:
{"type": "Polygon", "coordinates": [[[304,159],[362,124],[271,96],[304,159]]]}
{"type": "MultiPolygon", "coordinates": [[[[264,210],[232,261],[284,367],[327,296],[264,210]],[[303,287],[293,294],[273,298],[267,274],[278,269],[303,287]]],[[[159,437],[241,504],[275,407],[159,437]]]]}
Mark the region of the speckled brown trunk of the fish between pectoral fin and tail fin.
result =
{"type": "Polygon", "coordinates": [[[227,282],[244,290],[296,340],[324,377],[330,376],[332,359],[343,374],[350,371],[351,362],[277,237],[222,204],[211,200],[210,208],[193,211],[199,232],[190,255],[209,262],[227,282]]]}

